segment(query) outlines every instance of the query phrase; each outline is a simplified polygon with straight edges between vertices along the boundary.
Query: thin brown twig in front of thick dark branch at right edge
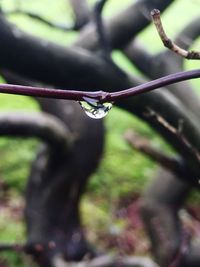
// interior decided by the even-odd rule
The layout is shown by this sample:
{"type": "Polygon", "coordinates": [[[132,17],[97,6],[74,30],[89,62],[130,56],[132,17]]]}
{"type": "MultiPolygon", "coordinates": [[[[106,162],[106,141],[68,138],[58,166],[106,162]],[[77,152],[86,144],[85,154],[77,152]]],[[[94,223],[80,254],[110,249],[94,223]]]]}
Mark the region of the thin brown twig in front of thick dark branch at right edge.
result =
{"type": "Polygon", "coordinates": [[[175,128],[169,122],[167,122],[160,114],[158,114],[151,108],[148,108],[148,111],[149,113],[146,114],[146,116],[154,117],[163,127],[165,127],[168,131],[176,135],[200,162],[200,152],[195,147],[193,147],[190,141],[184,136],[184,134],[182,133],[182,125],[179,124],[178,128],[175,128]]]}

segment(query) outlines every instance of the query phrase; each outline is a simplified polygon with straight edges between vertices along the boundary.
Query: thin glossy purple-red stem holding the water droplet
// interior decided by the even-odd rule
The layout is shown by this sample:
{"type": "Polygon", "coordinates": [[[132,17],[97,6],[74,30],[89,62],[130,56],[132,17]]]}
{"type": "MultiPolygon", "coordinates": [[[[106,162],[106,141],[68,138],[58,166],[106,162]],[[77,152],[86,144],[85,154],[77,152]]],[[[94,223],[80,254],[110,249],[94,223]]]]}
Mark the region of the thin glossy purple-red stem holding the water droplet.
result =
{"type": "Polygon", "coordinates": [[[27,95],[37,97],[48,97],[56,99],[68,99],[75,101],[83,101],[87,98],[95,99],[101,103],[103,102],[115,102],[124,98],[129,98],[139,94],[143,94],[157,88],[174,84],[177,82],[200,78],[200,69],[191,71],[182,71],[175,74],[170,74],[162,78],[131,87],[126,90],[118,92],[104,92],[104,91],[75,91],[75,90],[64,90],[64,89],[49,89],[41,87],[21,86],[12,84],[0,84],[0,93],[5,94],[16,94],[16,95],[27,95]]]}

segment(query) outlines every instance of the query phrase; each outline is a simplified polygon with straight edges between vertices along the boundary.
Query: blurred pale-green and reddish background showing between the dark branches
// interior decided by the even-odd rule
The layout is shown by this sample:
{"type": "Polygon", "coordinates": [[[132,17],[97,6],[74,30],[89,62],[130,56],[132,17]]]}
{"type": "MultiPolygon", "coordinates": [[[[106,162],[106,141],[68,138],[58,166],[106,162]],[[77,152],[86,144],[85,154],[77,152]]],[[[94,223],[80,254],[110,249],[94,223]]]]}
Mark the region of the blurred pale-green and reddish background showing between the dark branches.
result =
{"type": "MultiPolygon", "coordinates": [[[[133,0],[109,0],[103,16],[109,17],[132,2],[133,0]]],[[[12,12],[15,9],[30,11],[53,23],[72,25],[73,11],[66,0],[1,0],[0,4],[3,11],[8,13],[9,21],[30,34],[64,46],[69,46],[77,37],[78,33],[74,31],[64,32],[25,14],[12,12]]],[[[90,4],[93,5],[94,1],[91,0],[90,4]]],[[[162,15],[168,36],[173,38],[191,18],[199,16],[199,5],[199,0],[175,1],[162,15]]],[[[153,25],[147,27],[139,39],[152,53],[165,49],[153,25]]],[[[200,39],[194,43],[193,49],[200,50],[200,39]]],[[[115,51],[112,57],[129,73],[142,76],[119,51],[115,51]]],[[[185,69],[198,66],[198,61],[185,61],[185,69]]],[[[4,80],[1,78],[0,82],[3,83],[4,80]]],[[[200,81],[191,83],[200,94],[200,81]]],[[[0,94],[0,111],[30,112],[38,109],[32,98],[0,94]]],[[[104,120],[106,146],[103,158],[88,183],[81,207],[85,231],[91,242],[98,243],[99,247],[118,251],[122,255],[148,255],[149,243],[138,215],[137,200],[155,176],[158,167],[132,149],[125,141],[124,133],[128,129],[134,129],[155,147],[170,153],[173,150],[145,123],[116,107],[104,120]]],[[[25,240],[23,194],[38,143],[34,139],[0,138],[0,242],[20,243],[25,240]]],[[[199,200],[198,194],[193,192],[188,203],[196,206],[199,200]]],[[[28,257],[15,253],[0,254],[0,262],[1,266],[34,266],[28,257]]]]}

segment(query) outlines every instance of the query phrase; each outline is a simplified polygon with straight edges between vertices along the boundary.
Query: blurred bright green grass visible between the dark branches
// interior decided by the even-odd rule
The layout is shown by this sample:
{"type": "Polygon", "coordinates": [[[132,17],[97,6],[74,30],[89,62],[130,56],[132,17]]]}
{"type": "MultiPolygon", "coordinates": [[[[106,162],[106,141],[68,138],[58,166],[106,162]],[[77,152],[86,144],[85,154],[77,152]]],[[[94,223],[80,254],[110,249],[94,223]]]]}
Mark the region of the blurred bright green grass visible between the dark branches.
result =
{"type": "MultiPolygon", "coordinates": [[[[32,10],[47,19],[68,24],[72,22],[71,11],[65,6],[66,0],[58,2],[24,0],[21,2],[24,9],[32,10]],[[49,3],[51,4],[49,5],[49,3]],[[46,6],[49,6],[49,8],[46,8],[46,6]],[[69,12],[68,17],[66,17],[66,12],[69,12]]],[[[132,0],[126,0],[122,4],[122,1],[109,0],[105,15],[110,16],[113,14],[113,10],[120,11],[121,8],[131,2],[132,0]]],[[[3,0],[3,3],[7,10],[13,7],[12,0],[3,0]]],[[[192,17],[198,15],[199,3],[199,0],[177,0],[167,10],[163,15],[163,23],[170,37],[173,37],[192,17]]],[[[12,16],[10,20],[24,31],[62,45],[69,45],[77,36],[75,33],[63,33],[54,30],[28,19],[26,16],[12,16]]],[[[164,50],[153,26],[148,27],[140,34],[139,38],[152,53],[164,50]]],[[[199,42],[196,42],[194,47],[199,49],[199,42]]],[[[119,51],[113,53],[113,58],[117,64],[129,73],[140,75],[119,51]]],[[[187,69],[198,68],[198,64],[197,61],[185,63],[187,69]]],[[[199,81],[196,80],[192,83],[196,88],[199,87],[199,81]]],[[[33,99],[28,97],[0,94],[0,111],[15,110],[29,112],[38,110],[38,106],[33,99]]],[[[151,143],[157,147],[168,149],[167,145],[146,124],[115,107],[106,117],[105,124],[107,138],[104,156],[98,171],[90,179],[87,187],[88,194],[83,204],[83,211],[86,214],[84,220],[87,223],[87,218],[93,216],[94,220],[99,223],[95,224],[97,227],[109,223],[108,216],[110,216],[110,213],[108,211],[110,207],[115,205],[121,197],[142,191],[156,172],[156,166],[153,162],[130,149],[123,139],[124,132],[129,128],[134,129],[140,135],[149,138],[151,143]],[[94,203],[94,205],[91,206],[91,203],[94,203]]],[[[5,181],[10,190],[12,189],[10,192],[13,198],[17,199],[17,195],[21,195],[24,191],[30,164],[34,160],[37,146],[38,143],[35,140],[0,139],[0,180],[5,181]]],[[[12,223],[12,219],[9,221],[9,217],[5,218],[4,215],[7,216],[6,214],[0,214],[0,229],[2,229],[0,240],[22,240],[24,238],[23,224],[19,221],[17,224],[15,221],[12,223]],[[5,221],[8,223],[6,224],[5,221]]],[[[10,258],[9,255],[11,254],[5,254],[5,257],[10,258]]],[[[12,262],[13,266],[22,266],[21,260],[16,257],[12,262]]]]}

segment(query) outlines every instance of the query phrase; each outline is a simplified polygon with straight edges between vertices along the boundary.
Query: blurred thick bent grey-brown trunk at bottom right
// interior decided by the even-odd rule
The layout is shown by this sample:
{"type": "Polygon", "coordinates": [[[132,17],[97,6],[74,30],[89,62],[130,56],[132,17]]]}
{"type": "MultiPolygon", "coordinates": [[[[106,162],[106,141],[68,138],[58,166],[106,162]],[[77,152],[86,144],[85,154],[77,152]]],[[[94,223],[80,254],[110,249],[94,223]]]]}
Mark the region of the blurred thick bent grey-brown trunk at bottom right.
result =
{"type": "Polygon", "coordinates": [[[143,221],[160,266],[187,266],[180,264],[189,242],[178,212],[190,190],[187,183],[162,170],[141,200],[143,221]]]}

